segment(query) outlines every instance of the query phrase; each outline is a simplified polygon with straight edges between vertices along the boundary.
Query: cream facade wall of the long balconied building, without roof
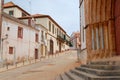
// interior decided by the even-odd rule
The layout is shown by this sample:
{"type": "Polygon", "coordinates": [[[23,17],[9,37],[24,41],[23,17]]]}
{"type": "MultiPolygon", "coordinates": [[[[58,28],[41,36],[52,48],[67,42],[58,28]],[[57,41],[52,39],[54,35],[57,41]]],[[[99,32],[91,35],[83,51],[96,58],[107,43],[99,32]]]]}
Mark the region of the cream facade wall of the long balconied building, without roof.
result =
{"type": "Polygon", "coordinates": [[[61,52],[69,49],[69,46],[66,45],[65,42],[60,42],[58,40],[58,35],[63,38],[63,35],[66,36],[66,32],[64,32],[58,25],[53,22],[50,18],[40,18],[36,20],[36,23],[39,22],[40,24],[44,25],[48,29],[48,36],[47,36],[47,42],[48,42],[48,53],[50,52],[50,40],[53,41],[53,53],[61,52]],[[49,24],[50,23],[50,24],[49,24]],[[51,29],[50,29],[51,25],[51,29]],[[54,29],[53,29],[54,25],[54,29]]]}

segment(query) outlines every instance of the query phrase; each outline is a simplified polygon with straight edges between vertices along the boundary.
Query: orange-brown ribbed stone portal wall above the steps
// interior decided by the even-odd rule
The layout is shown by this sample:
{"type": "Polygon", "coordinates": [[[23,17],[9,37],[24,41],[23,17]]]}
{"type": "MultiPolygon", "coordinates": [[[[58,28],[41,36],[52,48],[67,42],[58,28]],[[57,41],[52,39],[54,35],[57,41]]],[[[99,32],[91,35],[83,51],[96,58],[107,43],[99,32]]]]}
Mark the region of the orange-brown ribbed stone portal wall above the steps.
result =
{"type": "Polygon", "coordinates": [[[88,60],[115,55],[114,0],[85,0],[88,60]]]}

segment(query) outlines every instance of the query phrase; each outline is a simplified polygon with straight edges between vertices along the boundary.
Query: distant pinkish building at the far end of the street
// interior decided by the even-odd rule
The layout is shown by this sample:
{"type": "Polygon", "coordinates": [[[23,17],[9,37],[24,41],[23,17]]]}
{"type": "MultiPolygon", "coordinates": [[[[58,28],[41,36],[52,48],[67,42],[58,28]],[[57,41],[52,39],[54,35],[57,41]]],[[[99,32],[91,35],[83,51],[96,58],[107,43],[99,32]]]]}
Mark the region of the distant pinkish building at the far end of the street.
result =
{"type": "Polygon", "coordinates": [[[80,32],[73,32],[71,34],[70,41],[72,43],[71,49],[78,49],[79,45],[81,45],[81,42],[80,42],[80,32]]]}

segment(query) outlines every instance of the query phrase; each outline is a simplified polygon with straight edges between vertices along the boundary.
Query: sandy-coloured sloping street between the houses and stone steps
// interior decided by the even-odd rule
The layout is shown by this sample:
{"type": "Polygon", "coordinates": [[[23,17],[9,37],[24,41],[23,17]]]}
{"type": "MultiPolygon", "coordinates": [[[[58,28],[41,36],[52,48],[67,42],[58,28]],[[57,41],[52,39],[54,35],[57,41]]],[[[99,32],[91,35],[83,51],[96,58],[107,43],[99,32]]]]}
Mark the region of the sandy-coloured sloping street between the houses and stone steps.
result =
{"type": "Polygon", "coordinates": [[[0,80],[55,80],[58,74],[80,65],[76,51],[0,73],[0,80]]]}

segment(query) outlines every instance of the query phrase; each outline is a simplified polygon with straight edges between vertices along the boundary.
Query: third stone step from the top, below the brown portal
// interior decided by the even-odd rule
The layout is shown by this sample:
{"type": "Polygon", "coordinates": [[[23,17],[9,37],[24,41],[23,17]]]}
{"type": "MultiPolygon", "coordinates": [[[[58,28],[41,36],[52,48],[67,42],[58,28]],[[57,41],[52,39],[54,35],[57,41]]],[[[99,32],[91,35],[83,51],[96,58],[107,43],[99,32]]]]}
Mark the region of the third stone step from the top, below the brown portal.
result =
{"type": "Polygon", "coordinates": [[[120,70],[98,70],[86,67],[77,67],[76,69],[98,76],[120,76],[120,70]]]}

